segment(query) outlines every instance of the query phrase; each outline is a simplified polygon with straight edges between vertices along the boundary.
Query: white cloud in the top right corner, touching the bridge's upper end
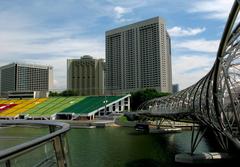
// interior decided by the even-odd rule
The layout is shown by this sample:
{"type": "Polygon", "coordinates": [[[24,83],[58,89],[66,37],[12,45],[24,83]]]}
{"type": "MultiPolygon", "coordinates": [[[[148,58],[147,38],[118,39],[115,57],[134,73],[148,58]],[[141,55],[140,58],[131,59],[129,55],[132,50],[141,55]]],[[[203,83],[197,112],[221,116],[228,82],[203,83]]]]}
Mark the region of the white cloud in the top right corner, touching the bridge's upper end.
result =
{"type": "Polygon", "coordinates": [[[206,13],[208,19],[226,19],[234,0],[201,0],[193,3],[189,12],[206,13]]]}

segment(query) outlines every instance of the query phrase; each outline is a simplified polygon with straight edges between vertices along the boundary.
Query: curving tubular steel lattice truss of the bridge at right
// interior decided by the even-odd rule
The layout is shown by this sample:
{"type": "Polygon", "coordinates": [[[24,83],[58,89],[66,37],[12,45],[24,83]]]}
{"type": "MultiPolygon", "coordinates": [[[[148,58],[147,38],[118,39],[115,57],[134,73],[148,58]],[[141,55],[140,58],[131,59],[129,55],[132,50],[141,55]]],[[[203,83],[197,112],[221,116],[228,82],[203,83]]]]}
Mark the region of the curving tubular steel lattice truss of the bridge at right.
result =
{"type": "MultiPolygon", "coordinates": [[[[147,101],[140,110],[191,120],[211,128],[222,148],[240,150],[240,0],[233,4],[216,60],[196,84],[170,96],[147,101]],[[164,113],[164,114],[163,114],[164,113]]],[[[196,143],[196,142],[195,142],[196,143]]]]}

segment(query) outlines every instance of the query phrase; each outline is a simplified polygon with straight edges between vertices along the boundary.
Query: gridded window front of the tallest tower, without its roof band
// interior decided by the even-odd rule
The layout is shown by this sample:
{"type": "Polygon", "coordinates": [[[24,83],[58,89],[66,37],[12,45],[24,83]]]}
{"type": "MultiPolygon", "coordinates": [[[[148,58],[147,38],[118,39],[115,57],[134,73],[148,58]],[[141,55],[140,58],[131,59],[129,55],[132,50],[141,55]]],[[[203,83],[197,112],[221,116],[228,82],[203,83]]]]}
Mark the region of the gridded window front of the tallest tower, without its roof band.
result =
{"type": "MultiPolygon", "coordinates": [[[[160,26],[161,34],[165,34],[163,27],[164,25],[160,26]]],[[[161,35],[159,39],[158,23],[118,33],[117,37],[111,35],[111,38],[107,37],[106,39],[108,86],[115,84],[118,87],[136,88],[139,86],[139,81],[136,81],[134,76],[139,75],[137,73],[139,69],[142,70],[141,74],[145,76],[141,78],[140,82],[142,84],[160,86],[160,79],[158,79],[160,76],[157,72],[160,71],[160,57],[156,57],[156,55],[160,54],[160,46],[164,48],[164,41],[162,40],[165,40],[165,37],[161,35]],[[138,43],[136,39],[138,38],[140,39],[140,55],[138,55],[137,50],[138,43]],[[162,43],[159,45],[160,40],[162,43]],[[120,62],[123,62],[123,66],[120,62]],[[121,70],[122,68],[124,68],[123,71],[121,70]],[[133,71],[136,72],[133,73],[133,71]],[[117,75],[118,77],[113,77],[112,75],[117,75]],[[123,80],[123,83],[118,83],[116,82],[117,80],[123,80]]],[[[163,50],[161,53],[165,54],[165,51],[163,50]]],[[[166,63],[166,61],[164,60],[162,63],[166,63]]],[[[138,78],[138,76],[136,77],[138,78]]]]}

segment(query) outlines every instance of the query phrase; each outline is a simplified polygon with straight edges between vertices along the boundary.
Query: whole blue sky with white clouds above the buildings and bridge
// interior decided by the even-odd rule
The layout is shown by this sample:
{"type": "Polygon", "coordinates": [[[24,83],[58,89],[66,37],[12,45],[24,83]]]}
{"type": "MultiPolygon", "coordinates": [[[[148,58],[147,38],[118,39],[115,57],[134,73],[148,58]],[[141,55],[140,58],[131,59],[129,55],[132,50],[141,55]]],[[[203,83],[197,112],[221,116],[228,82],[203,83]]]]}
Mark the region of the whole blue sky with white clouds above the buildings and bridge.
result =
{"type": "Polygon", "coordinates": [[[67,59],[105,58],[105,32],[160,16],[172,44],[173,83],[184,89],[212,67],[234,0],[0,0],[0,66],[51,65],[66,89],[67,59]]]}

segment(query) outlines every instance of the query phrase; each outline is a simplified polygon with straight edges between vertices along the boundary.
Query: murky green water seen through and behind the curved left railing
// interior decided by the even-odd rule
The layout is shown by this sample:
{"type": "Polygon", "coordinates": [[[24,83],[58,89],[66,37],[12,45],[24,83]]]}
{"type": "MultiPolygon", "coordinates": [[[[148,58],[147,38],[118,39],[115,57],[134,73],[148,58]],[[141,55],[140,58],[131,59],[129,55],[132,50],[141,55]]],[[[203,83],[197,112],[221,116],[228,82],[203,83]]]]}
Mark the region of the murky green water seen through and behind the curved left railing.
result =
{"type": "MultiPolygon", "coordinates": [[[[48,132],[48,128],[33,128],[32,126],[10,126],[6,128],[0,128],[0,150],[15,146],[17,144],[22,144],[26,141],[30,141],[34,138],[46,135],[48,132]]],[[[35,166],[36,163],[39,163],[42,160],[46,160],[46,158],[50,159],[50,157],[52,162],[56,162],[54,155],[55,154],[52,143],[45,143],[38,148],[12,158],[10,164],[12,167],[35,166]]],[[[4,162],[0,162],[0,167],[5,167],[4,162]]]]}

